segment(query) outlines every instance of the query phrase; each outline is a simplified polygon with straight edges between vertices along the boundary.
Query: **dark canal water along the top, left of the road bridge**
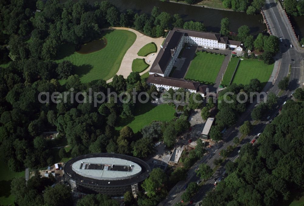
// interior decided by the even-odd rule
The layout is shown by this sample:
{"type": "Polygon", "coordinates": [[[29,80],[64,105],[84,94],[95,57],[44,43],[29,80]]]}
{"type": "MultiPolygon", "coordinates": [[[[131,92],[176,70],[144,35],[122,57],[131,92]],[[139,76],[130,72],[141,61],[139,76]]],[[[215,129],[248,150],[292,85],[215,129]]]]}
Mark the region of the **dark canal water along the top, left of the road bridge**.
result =
{"type": "MultiPolygon", "coordinates": [[[[94,1],[94,0],[89,0],[94,1]]],[[[266,25],[261,23],[263,17],[258,15],[247,15],[245,12],[232,12],[218,9],[207,9],[199,6],[184,5],[174,2],[162,2],[159,0],[108,0],[115,5],[120,12],[133,9],[139,13],[150,13],[153,6],[159,7],[161,12],[168,12],[171,15],[179,14],[185,21],[200,21],[204,23],[207,31],[219,32],[221,20],[228,17],[230,30],[237,32],[242,25],[250,27],[250,33],[257,35],[266,30],[266,25]]]]}

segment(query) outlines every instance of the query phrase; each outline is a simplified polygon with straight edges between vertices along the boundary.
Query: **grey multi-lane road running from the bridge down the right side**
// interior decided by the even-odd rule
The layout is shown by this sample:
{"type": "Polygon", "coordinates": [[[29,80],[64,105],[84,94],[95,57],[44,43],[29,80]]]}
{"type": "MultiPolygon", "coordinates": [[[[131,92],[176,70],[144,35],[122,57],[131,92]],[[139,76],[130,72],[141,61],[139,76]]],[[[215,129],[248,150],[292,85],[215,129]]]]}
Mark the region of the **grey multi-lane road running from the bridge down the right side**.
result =
{"type": "MultiPolygon", "coordinates": [[[[303,83],[304,54],[301,52],[301,48],[299,48],[298,46],[295,34],[292,30],[287,16],[285,15],[285,12],[282,10],[281,5],[278,5],[275,0],[266,0],[264,13],[270,25],[272,34],[274,34],[278,38],[282,38],[282,42],[280,41],[280,52],[275,57],[276,68],[274,69],[274,72],[263,91],[278,94],[280,92],[280,89],[278,88],[278,82],[282,80],[283,77],[288,75],[289,65],[292,66],[289,90],[284,91],[278,101],[278,104],[282,105],[283,102],[286,101],[287,98],[289,98],[292,91],[294,91],[303,83]],[[292,45],[292,48],[290,47],[290,45],[292,45]]],[[[220,158],[219,151],[221,151],[222,149],[226,149],[229,145],[233,145],[234,137],[241,137],[241,134],[239,133],[240,125],[242,125],[246,120],[253,122],[251,120],[250,113],[254,106],[256,106],[256,104],[257,101],[254,101],[249,105],[246,112],[244,112],[243,115],[241,115],[241,117],[237,121],[235,127],[230,128],[226,131],[223,137],[223,141],[216,144],[213,148],[210,148],[208,154],[205,155],[201,160],[196,162],[196,164],[188,171],[187,180],[179,182],[176,186],[174,186],[174,188],[169,192],[166,200],[161,202],[160,205],[174,205],[176,203],[181,202],[181,194],[185,191],[187,184],[189,182],[196,182],[197,180],[199,180],[199,178],[195,174],[195,169],[198,168],[198,165],[200,163],[204,162],[211,168],[215,167],[213,161],[217,158],[220,158]]],[[[277,112],[278,108],[273,111],[269,111],[269,113],[265,114],[265,116],[269,115],[272,119],[277,112]]],[[[254,129],[251,133],[252,135],[245,137],[240,143],[240,145],[230,154],[230,156],[226,159],[225,162],[234,161],[238,157],[239,148],[254,139],[257,133],[262,132],[267,123],[268,121],[256,122],[256,125],[254,126],[254,129]]],[[[203,197],[206,195],[206,192],[214,187],[214,179],[222,176],[223,172],[223,166],[219,167],[219,169],[215,172],[212,178],[207,180],[206,183],[202,187],[200,187],[199,192],[193,197],[192,205],[197,205],[200,201],[202,201],[203,197]]]]}

